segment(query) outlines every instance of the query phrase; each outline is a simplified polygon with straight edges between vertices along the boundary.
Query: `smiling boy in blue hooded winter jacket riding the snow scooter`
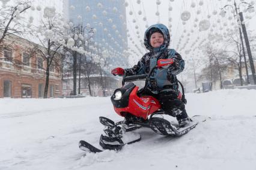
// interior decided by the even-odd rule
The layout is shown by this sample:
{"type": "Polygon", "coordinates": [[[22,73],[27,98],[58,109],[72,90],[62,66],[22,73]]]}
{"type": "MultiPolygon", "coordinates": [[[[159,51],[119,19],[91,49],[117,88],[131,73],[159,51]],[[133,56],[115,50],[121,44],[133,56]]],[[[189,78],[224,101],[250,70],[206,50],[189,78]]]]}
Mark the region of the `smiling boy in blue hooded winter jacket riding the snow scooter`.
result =
{"type": "Polygon", "coordinates": [[[158,99],[162,110],[166,114],[177,118],[181,127],[189,125],[185,105],[177,99],[178,81],[176,75],[184,69],[184,60],[173,49],[168,49],[170,36],[168,28],[162,24],[150,26],[144,35],[144,45],[150,51],[146,53],[133,68],[115,68],[111,71],[114,75],[148,74],[150,69],[157,64],[158,59],[173,59],[174,63],[168,69],[155,69],[149,78],[147,95],[158,99]]]}

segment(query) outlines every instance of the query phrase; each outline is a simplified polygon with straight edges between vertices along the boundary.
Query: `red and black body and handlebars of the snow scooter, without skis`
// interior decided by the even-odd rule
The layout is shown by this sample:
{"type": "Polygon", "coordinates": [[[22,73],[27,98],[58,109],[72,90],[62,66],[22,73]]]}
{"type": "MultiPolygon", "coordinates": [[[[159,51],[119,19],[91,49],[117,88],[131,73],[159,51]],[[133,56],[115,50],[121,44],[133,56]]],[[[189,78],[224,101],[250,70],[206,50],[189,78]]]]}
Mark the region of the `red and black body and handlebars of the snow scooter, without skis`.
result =
{"type": "MultiPolygon", "coordinates": [[[[148,116],[151,114],[163,114],[163,111],[160,110],[161,106],[159,101],[152,96],[145,96],[145,92],[148,84],[148,78],[154,71],[154,69],[165,67],[173,63],[172,59],[160,59],[158,60],[157,66],[152,68],[148,74],[142,75],[133,75],[129,77],[123,77],[123,87],[116,89],[114,95],[111,96],[112,104],[114,105],[114,110],[120,116],[125,117],[126,119],[138,118],[148,120],[148,116]],[[143,89],[139,90],[138,86],[135,86],[132,82],[136,80],[144,80],[145,86],[143,89]],[[129,83],[126,83],[129,82],[129,83]],[[125,84],[126,83],[126,84],[125,84]]],[[[182,88],[182,93],[179,92],[178,99],[183,101],[186,104],[186,99],[184,95],[183,85],[178,81],[182,88]]],[[[145,122],[145,121],[144,121],[145,122]]]]}

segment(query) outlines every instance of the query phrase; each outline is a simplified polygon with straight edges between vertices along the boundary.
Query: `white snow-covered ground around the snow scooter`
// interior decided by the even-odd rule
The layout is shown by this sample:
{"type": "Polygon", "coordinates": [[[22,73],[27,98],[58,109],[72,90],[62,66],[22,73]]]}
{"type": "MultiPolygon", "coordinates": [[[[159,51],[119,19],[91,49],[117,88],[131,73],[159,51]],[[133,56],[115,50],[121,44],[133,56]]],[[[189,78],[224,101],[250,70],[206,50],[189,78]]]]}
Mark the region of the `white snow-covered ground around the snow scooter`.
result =
{"type": "Polygon", "coordinates": [[[110,98],[0,99],[0,169],[256,169],[256,90],[188,93],[187,113],[210,116],[180,138],[138,129],[123,150],[84,155],[99,116],[121,120],[110,98]]]}

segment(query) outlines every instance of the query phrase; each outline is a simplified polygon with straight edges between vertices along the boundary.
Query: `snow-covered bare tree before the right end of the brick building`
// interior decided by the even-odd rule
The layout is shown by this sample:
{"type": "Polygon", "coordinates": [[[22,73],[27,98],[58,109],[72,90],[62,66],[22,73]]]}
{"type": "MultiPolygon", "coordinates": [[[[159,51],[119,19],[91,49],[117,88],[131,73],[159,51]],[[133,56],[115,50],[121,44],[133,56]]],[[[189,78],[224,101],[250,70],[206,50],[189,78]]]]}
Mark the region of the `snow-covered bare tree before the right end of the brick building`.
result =
{"type": "Polygon", "coordinates": [[[41,19],[41,25],[37,34],[40,45],[44,48],[35,47],[35,51],[43,58],[46,63],[46,81],[44,86],[44,98],[47,98],[49,89],[50,69],[60,69],[61,52],[63,39],[63,26],[61,25],[61,16],[55,13],[55,8],[44,8],[44,17],[41,19]]]}

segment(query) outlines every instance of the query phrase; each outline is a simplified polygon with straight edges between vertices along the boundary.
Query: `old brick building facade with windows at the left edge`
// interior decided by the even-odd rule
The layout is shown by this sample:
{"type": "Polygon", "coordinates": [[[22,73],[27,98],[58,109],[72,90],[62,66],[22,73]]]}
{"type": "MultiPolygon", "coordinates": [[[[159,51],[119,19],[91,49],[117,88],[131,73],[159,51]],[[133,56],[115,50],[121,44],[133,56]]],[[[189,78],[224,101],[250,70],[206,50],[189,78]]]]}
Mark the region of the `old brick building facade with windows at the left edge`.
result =
{"type": "MultiPolygon", "coordinates": [[[[35,44],[13,35],[5,40],[5,44],[11,50],[12,59],[6,59],[4,49],[0,51],[0,98],[42,98],[46,74],[37,65],[40,57],[29,51],[35,44]],[[29,63],[24,63],[25,54],[29,54],[29,63]]],[[[45,62],[43,68],[46,68],[45,62]]],[[[61,92],[61,72],[53,69],[49,77],[48,97],[55,98],[61,92]]]]}

